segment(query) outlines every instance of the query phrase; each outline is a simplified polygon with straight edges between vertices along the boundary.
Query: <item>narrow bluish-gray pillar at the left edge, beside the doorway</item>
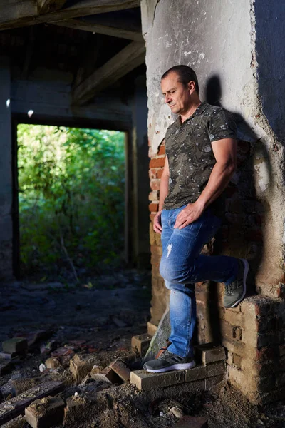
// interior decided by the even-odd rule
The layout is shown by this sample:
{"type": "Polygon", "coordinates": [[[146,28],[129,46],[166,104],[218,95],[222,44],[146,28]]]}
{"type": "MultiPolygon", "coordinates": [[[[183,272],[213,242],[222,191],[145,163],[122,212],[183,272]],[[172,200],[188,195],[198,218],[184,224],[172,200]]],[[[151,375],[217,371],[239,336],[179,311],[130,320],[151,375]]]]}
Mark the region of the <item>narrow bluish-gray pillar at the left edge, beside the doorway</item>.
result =
{"type": "Polygon", "coordinates": [[[0,278],[13,276],[12,269],[12,139],[10,66],[0,57],[0,278]]]}

